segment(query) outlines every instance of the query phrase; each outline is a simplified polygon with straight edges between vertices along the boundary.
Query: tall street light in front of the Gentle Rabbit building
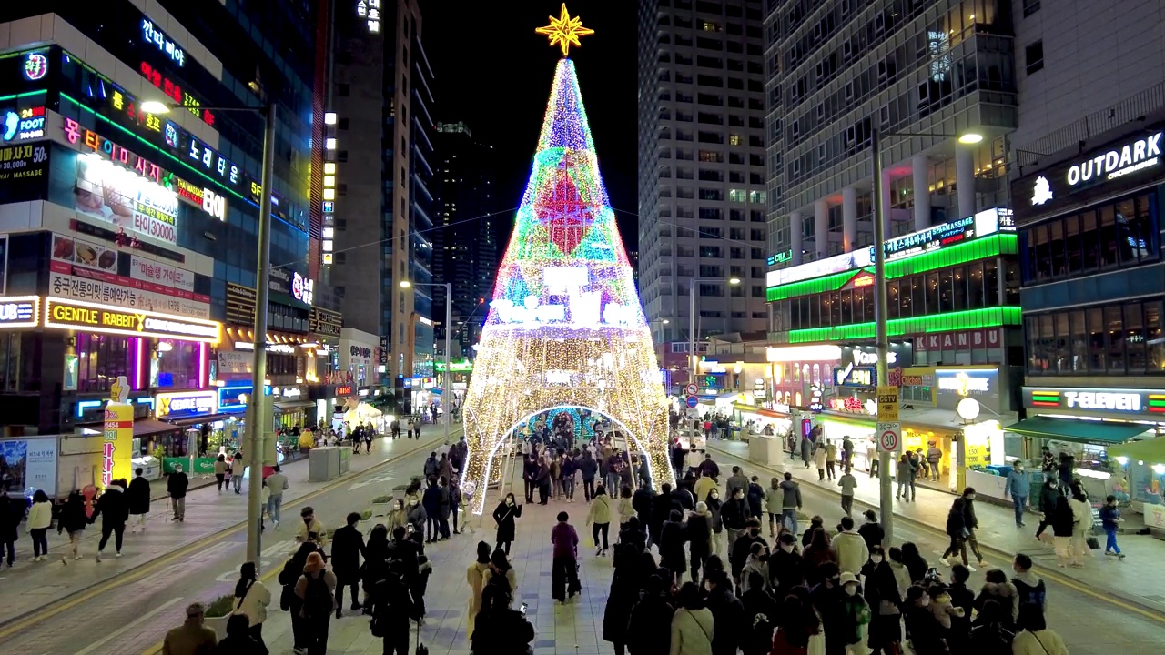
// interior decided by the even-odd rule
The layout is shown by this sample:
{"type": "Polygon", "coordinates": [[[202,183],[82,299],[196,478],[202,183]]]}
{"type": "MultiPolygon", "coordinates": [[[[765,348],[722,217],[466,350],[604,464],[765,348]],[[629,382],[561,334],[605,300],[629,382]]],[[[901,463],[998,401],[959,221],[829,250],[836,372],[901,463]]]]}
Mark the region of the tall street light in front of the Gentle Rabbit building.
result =
{"type": "MultiPolygon", "coordinates": [[[[140,110],[149,114],[168,114],[172,107],[157,100],[146,100],[140,110]]],[[[247,484],[247,562],[255,565],[257,572],[261,565],[259,554],[262,551],[262,491],[263,491],[263,432],[260,431],[261,417],[266,416],[263,406],[268,402],[263,386],[267,380],[267,279],[271,268],[271,186],[275,168],[275,101],[264,107],[200,107],[218,112],[246,112],[260,114],[266,121],[263,129],[263,172],[261,195],[259,199],[259,263],[255,269],[255,332],[252,359],[254,382],[250,394],[250,420],[247,421],[247,434],[243,451],[247,455],[247,466],[250,478],[247,484]]]]}

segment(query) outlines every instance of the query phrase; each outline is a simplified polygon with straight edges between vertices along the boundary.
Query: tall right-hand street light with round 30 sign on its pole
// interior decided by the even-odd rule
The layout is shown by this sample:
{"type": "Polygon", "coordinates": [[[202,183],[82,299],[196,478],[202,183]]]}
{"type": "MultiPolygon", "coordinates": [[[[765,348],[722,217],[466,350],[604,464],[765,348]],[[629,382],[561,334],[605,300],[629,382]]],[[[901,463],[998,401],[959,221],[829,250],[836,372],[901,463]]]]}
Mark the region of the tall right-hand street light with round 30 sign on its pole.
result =
{"type": "MultiPolygon", "coordinates": [[[[888,132],[881,134],[875,127],[871,134],[870,157],[874,163],[874,331],[877,345],[877,361],[875,362],[875,375],[880,385],[885,383],[887,359],[890,353],[889,325],[887,317],[890,311],[890,301],[885,288],[885,224],[882,216],[882,139],[883,138],[932,138],[932,139],[956,139],[960,143],[979,143],[983,135],[968,132],[965,134],[935,134],[935,133],[910,133],[888,132]]],[[[890,547],[894,538],[894,503],[890,494],[894,487],[890,483],[890,453],[878,452],[878,508],[882,510],[882,544],[890,547]]]]}

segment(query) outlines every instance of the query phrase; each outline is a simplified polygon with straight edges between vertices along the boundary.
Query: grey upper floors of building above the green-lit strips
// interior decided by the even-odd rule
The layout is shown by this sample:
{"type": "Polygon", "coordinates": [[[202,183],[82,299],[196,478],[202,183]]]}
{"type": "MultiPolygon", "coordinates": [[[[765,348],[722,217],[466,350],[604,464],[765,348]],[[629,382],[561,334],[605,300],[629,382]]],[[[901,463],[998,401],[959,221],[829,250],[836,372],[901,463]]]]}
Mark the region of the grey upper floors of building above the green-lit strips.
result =
{"type": "MultiPolygon", "coordinates": [[[[882,135],[887,237],[1007,203],[1017,124],[1009,2],[770,2],[764,30],[774,265],[873,244],[882,135]],[[983,140],[965,146],[951,136],[983,140]]],[[[779,331],[779,330],[778,330],[779,331]]]]}

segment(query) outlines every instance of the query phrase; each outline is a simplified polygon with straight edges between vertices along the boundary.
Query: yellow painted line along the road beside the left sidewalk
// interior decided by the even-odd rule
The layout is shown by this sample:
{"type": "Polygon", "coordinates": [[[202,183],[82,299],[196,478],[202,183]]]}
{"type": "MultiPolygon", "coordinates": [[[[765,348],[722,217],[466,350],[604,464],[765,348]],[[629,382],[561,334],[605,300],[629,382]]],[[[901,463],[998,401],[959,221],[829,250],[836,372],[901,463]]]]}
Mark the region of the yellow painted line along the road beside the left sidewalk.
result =
{"type": "MultiPolygon", "coordinates": [[[[442,437],[443,437],[442,435],[438,435],[435,441],[439,442],[442,439],[442,437]]],[[[408,450],[405,452],[402,452],[400,455],[394,455],[393,457],[390,457],[390,458],[388,458],[388,459],[386,459],[386,460],[383,460],[383,462],[381,462],[379,464],[374,464],[374,465],[369,466],[368,469],[365,469],[363,471],[356,473],[353,478],[360,478],[360,477],[362,477],[362,476],[365,476],[367,473],[377,471],[377,470],[380,470],[380,469],[382,469],[384,466],[388,466],[389,464],[394,464],[394,463],[396,463],[396,462],[398,462],[401,459],[404,459],[405,457],[410,457],[410,456],[412,456],[412,455],[415,455],[417,452],[421,452],[421,451],[423,451],[426,448],[433,448],[433,443],[432,442],[426,442],[425,445],[417,444],[415,448],[412,448],[412,449],[410,449],[410,450],[408,450]]],[[[330,492],[330,491],[332,491],[332,490],[334,490],[337,487],[341,487],[341,486],[344,486],[346,484],[350,484],[353,480],[353,478],[340,477],[336,481],[330,483],[326,486],[323,486],[323,487],[320,487],[320,488],[318,488],[318,490],[316,490],[316,491],[313,491],[311,493],[308,493],[308,494],[305,494],[305,495],[303,495],[301,498],[297,498],[295,500],[295,502],[304,502],[304,501],[311,500],[311,499],[313,499],[313,498],[316,498],[316,496],[318,496],[318,495],[320,495],[320,494],[323,494],[325,492],[330,492]]],[[[8,625],[3,626],[2,628],[0,628],[0,640],[5,639],[5,638],[7,638],[7,636],[9,636],[9,635],[12,635],[14,633],[28,629],[28,628],[30,628],[30,627],[33,627],[33,626],[35,626],[37,624],[44,622],[45,620],[48,620],[48,619],[50,619],[52,617],[56,617],[57,614],[59,614],[62,612],[72,610],[73,607],[80,605],[82,603],[86,603],[89,600],[92,600],[93,598],[97,598],[99,596],[101,596],[103,593],[110,592],[110,591],[112,591],[112,590],[114,590],[116,587],[125,586],[127,584],[132,584],[132,583],[139,582],[142,578],[149,576],[150,573],[154,573],[157,570],[168,566],[170,563],[175,562],[176,559],[181,559],[181,558],[183,558],[183,557],[185,557],[188,555],[197,552],[197,551],[206,548],[207,545],[211,545],[212,543],[219,542],[219,541],[221,541],[223,538],[225,538],[225,537],[227,537],[230,535],[233,535],[235,533],[239,533],[239,531],[243,530],[246,527],[247,527],[247,522],[242,521],[241,523],[238,523],[238,524],[232,526],[230,528],[224,528],[223,530],[219,530],[217,533],[206,535],[205,537],[202,537],[198,541],[196,541],[196,542],[193,542],[193,543],[191,543],[189,545],[185,545],[185,547],[183,547],[183,548],[181,548],[181,549],[178,549],[178,550],[176,550],[176,551],[174,551],[174,552],[171,552],[169,555],[163,555],[161,557],[157,557],[157,558],[148,562],[147,564],[144,564],[142,566],[133,569],[132,571],[126,571],[125,573],[121,573],[121,575],[119,575],[119,576],[116,576],[114,578],[111,578],[111,579],[108,579],[108,580],[106,580],[104,583],[98,583],[97,585],[94,585],[92,587],[89,587],[85,591],[77,592],[76,594],[70,596],[69,598],[63,599],[63,600],[58,601],[57,604],[48,605],[48,606],[42,607],[40,610],[35,610],[30,615],[26,615],[24,618],[16,619],[16,620],[12,621],[10,624],[8,624],[8,625]]],[[[269,575],[269,573],[267,573],[267,575],[269,575]]],[[[264,578],[266,578],[266,575],[264,575],[264,578]]],[[[162,649],[162,646],[161,646],[161,643],[158,643],[157,652],[161,652],[161,649],[162,649]]]]}

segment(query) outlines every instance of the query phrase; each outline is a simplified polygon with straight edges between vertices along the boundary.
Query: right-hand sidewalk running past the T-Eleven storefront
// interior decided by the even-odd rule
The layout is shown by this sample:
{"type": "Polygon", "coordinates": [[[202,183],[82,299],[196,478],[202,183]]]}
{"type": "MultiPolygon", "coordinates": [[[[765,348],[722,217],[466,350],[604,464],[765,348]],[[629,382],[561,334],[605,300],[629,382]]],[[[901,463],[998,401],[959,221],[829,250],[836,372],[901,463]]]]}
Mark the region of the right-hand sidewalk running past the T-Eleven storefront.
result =
{"type": "MultiPolygon", "coordinates": [[[[840,496],[836,480],[819,481],[817,470],[804,469],[800,460],[784,460],[783,465],[775,467],[763,466],[748,459],[748,444],[743,442],[709,441],[708,450],[740,462],[749,477],[757,474],[762,478],[763,486],[768,486],[765,478],[771,474],[779,476],[789,471],[806,491],[816,490],[840,496]],[[758,472],[758,469],[769,474],[758,472]]],[[[788,457],[788,453],[783,455],[788,457]]],[[[722,469],[723,466],[721,464],[722,469]]],[[[855,472],[854,477],[857,478],[857,490],[854,494],[855,514],[867,507],[878,510],[881,492],[877,478],[870,478],[864,471],[855,472]]],[[[912,523],[916,528],[945,531],[947,513],[955,496],[922,485],[917,485],[917,494],[913,502],[895,501],[894,515],[912,523]]],[[[838,506],[836,515],[826,516],[826,523],[832,524],[832,521],[840,515],[841,508],[838,506]]],[[[1076,586],[1122,598],[1155,612],[1165,612],[1165,543],[1149,535],[1121,535],[1121,550],[1128,555],[1125,561],[1106,557],[1102,550],[1094,550],[1092,551],[1094,557],[1085,563],[1085,568],[1060,569],[1054,565],[1051,547],[1035,538],[1036,528],[1039,526],[1038,514],[1029,512],[1025,520],[1028,526],[1024,528],[1016,527],[1015,512],[1010,507],[976,502],[975,515],[979,519],[976,536],[980,547],[990,549],[995,554],[1007,555],[1007,561],[1001,562],[998,555],[986,554],[993,566],[1010,572],[1011,557],[1016,552],[1026,552],[1036,561],[1040,573],[1048,579],[1069,585],[1074,583],[1076,586]]],[[[1103,545],[1103,535],[1100,536],[1100,541],[1103,545]]],[[[935,564],[941,552],[937,552],[933,557],[929,554],[924,556],[935,564]]]]}

